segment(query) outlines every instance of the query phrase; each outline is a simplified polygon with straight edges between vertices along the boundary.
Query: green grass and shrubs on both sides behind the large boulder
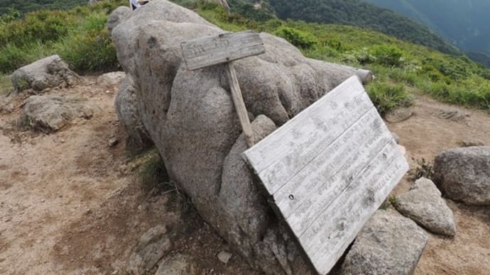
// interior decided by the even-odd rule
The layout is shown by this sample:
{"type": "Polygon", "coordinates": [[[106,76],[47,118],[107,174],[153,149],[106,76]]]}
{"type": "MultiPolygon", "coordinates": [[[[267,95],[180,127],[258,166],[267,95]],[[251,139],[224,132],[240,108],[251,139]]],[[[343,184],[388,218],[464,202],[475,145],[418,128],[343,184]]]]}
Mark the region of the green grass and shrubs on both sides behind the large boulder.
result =
{"type": "MultiPolygon", "coordinates": [[[[186,1],[186,0],[176,0],[186,1]]],[[[100,72],[118,66],[104,23],[126,1],[102,1],[70,11],[35,11],[21,19],[0,21],[0,72],[58,54],[76,72],[100,72]]],[[[229,15],[217,4],[192,1],[201,16],[224,30],[254,29],[275,33],[310,58],[363,67],[376,79],[368,91],[380,113],[408,106],[413,93],[441,101],[490,110],[490,70],[464,56],[445,55],[365,28],[337,24],[258,22],[229,15]]]]}

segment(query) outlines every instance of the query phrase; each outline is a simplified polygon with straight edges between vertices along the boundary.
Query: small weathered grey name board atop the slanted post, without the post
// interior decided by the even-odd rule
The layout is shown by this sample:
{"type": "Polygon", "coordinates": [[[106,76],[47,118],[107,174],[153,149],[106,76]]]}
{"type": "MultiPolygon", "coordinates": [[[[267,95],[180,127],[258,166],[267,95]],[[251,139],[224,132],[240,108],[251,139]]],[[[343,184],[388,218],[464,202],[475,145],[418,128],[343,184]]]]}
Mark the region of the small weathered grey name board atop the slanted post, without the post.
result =
{"type": "Polygon", "coordinates": [[[202,69],[266,52],[258,33],[222,33],[180,44],[187,69],[202,69]]]}

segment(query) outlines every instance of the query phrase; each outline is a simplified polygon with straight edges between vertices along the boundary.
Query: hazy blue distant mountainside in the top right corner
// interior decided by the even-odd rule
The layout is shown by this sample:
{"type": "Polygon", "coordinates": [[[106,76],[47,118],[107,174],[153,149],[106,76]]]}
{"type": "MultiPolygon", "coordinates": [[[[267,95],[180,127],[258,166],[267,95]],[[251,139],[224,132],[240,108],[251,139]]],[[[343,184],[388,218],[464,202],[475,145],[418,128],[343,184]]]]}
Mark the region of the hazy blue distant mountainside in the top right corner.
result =
{"type": "Polygon", "coordinates": [[[366,0],[423,22],[454,45],[490,55],[489,0],[366,0]]]}

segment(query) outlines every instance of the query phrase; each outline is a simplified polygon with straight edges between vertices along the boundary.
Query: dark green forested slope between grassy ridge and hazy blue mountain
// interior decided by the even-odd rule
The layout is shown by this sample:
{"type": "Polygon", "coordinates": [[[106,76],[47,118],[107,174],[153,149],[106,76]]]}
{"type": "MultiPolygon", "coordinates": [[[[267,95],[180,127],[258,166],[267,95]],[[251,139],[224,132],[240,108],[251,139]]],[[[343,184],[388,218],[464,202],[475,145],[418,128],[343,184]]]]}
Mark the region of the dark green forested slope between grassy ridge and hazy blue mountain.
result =
{"type": "Polygon", "coordinates": [[[270,0],[280,18],[341,23],[376,30],[453,55],[459,50],[427,27],[396,12],[361,0],[270,0]]]}

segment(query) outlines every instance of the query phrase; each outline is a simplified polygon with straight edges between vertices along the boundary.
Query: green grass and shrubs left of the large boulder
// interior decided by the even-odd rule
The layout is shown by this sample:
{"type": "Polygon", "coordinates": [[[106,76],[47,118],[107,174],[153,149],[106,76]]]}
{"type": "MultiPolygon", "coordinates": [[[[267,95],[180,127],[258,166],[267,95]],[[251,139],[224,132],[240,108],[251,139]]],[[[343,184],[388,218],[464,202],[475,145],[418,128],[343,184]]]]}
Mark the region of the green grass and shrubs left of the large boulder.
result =
{"type": "Polygon", "coordinates": [[[0,21],[0,72],[58,54],[76,72],[113,70],[116,50],[104,29],[107,15],[126,1],[104,1],[70,11],[34,11],[0,21]]]}

